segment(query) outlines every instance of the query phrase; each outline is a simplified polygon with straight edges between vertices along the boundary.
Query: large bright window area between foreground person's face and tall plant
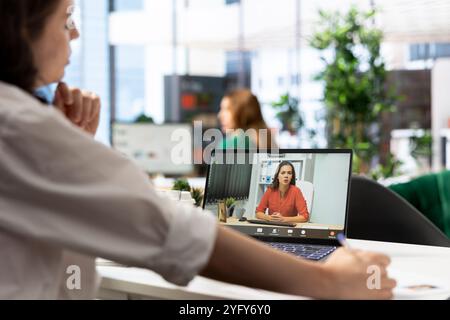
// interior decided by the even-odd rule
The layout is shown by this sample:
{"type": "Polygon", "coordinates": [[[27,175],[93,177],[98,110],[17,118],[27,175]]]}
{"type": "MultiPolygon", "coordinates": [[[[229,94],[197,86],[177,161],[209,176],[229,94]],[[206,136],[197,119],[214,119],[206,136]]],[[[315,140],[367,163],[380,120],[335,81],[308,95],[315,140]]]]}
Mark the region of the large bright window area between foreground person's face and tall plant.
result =
{"type": "MultiPolygon", "coordinates": [[[[305,42],[301,49],[296,47],[298,13],[312,14],[311,10],[297,10],[299,3],[284,0],[280,6],[277,0],[115,0],[111,30],[117,33],[112,37],[116,51],[116,120],[131,121],[145,112],[156,123],[171,121],[177,117],[169,117],[167,109],[181,113],[187,100],[180,99],[186,97],[180,95],[183,92],[176,81],[165,79],[211,78],[225,82],[222,94],[238,86],[250,88],[258,96],[271,128],[281,127],[271,103],[287,92],[300,97],[308,128],[320,131],[315,115],[323,107],[323,97],[320,85],[317,90],[312,79],[320,71],[321,62],[318,55],[305,49],[305,42]],[[245,10],[233,4],[243,4],[245,10]],[[300,85],[308,90],[300,90],[300,85]],[[172,96],[178,98],[170,100],[172,96]]],[[[221,96],[216,91],[214,95],[221,96]]],[[[213,123],[210,117],[197,118],[213,123]]],[[[214,120],[217,123],[217,116],[214,120]]],[[[308,144],[311,139],[304,140],[308,144]]],[[[289,147],[293,145],[289,140],[289,147]]]]}

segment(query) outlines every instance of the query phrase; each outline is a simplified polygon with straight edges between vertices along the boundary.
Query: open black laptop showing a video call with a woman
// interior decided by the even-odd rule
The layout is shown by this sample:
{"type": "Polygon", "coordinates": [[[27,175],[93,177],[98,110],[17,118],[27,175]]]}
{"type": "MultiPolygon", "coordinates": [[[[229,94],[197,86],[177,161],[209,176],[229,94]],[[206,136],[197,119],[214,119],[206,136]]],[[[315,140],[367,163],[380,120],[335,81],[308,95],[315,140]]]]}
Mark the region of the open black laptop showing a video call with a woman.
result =
{"type": "Polygon", "coordinates": [[[215,151],[203,208],[268,246],[324,260],[340,246],[337,236],[347,234],[352,158],[352,150],[215,151]],[[276,174],[292,168],[288,178],[276,174]],[[284,197],[280,188],[288,189],[284,197]]]}

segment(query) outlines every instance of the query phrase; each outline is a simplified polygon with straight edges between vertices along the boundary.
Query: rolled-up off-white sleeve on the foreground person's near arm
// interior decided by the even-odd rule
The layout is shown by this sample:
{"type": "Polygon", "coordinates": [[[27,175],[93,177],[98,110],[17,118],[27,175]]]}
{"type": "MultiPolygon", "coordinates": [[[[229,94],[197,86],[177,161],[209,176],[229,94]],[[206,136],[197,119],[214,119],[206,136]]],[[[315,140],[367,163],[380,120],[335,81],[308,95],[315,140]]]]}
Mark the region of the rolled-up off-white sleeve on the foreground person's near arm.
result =
{"type": "MultiPolygon", "coordinates": [[[[36,110],[35,110],[36,109],[36,110]]],[[[0,226],[187,285],[208,263],[212,214],[161,197],[148,177],[57,111],[0,121],[0,226]]]]}

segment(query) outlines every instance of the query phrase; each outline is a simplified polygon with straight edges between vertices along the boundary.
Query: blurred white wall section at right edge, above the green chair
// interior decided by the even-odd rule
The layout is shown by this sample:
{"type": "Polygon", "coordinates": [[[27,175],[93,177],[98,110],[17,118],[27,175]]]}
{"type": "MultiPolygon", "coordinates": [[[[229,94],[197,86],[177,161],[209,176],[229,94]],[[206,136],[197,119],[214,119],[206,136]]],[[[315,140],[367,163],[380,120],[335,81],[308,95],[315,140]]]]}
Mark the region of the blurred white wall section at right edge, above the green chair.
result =
{"type": "Polygon", "coordinates": [[[433,169],[441,169],[440,132],[450,120],[450,59],[436,61],[432,71],[433,169]]]}

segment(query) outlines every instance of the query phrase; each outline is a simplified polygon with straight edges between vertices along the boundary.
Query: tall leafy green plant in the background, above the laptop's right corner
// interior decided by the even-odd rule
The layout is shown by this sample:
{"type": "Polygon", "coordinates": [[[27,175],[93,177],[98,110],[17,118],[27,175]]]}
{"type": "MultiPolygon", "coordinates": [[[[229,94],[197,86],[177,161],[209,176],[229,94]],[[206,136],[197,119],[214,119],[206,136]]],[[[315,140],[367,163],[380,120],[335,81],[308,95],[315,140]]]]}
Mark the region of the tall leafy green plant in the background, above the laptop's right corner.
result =
{"type": "MultiPolygon", "coordinates": [[[[324,52],[325,66],[316,80],[325,85],[328,144],[353,149],[355,171],[369,174],[380,164],[378,155],[383,150],[389,153],[383,149],[379,123],[383,114],[395,110],[398,99],[387,85],[383,33],[370,25],[375,10],[360,12],[352,7],[346,14],[319,13],[321,29],[310,43],[324,52]]],[[[384,158],[390,159],[389,154],[384,158]]]]}

